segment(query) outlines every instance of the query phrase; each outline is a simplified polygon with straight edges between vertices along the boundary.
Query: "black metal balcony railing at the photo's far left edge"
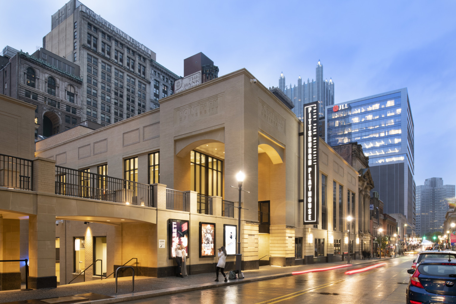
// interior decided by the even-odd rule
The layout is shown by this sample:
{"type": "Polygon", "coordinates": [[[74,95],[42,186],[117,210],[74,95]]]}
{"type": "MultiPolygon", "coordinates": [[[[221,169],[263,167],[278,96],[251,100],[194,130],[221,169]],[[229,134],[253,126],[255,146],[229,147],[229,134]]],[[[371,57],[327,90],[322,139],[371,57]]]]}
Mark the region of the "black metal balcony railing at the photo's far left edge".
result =
{"type": "Polygon", "coordinates": [[[0,186],[32,190],[33,160],[0,154],[0,186]]]}

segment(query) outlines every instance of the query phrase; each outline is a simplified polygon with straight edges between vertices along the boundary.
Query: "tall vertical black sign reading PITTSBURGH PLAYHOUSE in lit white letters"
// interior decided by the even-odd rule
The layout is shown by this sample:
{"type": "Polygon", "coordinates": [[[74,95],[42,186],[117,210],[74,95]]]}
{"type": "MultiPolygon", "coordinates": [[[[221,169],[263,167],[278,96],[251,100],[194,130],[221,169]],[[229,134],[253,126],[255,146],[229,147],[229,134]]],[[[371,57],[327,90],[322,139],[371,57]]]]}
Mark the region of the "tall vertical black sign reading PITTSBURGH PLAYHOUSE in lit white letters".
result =
{"type": "Polygon", "coordinates": [[[318,102],[304,105],[304,225],[318,224],[318,102]]]}

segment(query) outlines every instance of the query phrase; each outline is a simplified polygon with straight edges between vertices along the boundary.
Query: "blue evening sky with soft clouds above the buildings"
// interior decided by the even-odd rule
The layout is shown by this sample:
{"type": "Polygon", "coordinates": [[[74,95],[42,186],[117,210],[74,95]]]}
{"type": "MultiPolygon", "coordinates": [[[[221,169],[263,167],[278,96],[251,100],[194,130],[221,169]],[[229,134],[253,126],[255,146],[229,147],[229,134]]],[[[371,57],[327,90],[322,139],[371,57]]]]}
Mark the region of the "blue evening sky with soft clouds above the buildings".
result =
{"type": "MultiPolygon", "coordinates": [[[[184,58],[203,52],[219,76],[245,67],[266,87],[278,86],[282,71],[287,85],[315,78],[320,59],[335,103],[407,87],[416,185],[456,184],[455,1],[81,2],[178,75],[184,58]]],[[[65,3],[3,3],[0,47],[34,52],[65,3]]]]}

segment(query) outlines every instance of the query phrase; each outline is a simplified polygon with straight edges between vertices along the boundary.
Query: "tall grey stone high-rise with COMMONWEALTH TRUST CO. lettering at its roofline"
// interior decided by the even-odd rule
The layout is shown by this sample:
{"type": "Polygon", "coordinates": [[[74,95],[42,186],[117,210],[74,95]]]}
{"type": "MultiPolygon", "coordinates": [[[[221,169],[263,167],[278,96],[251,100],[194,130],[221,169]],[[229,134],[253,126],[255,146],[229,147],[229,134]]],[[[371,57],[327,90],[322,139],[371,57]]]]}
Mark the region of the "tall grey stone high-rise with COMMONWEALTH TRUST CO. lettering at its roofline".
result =
{"type": "Polygon", "coordinates": [[[78,0],[51,17],[43,47],[81,67],[83,120],[108,125],[150,109],[155,52],[78,0]]]}

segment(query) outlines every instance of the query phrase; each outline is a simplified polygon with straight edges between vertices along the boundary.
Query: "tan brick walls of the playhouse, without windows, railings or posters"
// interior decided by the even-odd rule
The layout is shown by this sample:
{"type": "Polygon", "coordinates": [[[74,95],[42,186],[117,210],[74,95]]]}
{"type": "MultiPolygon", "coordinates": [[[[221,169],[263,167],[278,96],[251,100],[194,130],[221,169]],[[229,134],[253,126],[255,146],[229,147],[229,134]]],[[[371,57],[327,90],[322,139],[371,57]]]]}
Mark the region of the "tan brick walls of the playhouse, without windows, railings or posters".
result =
{"type": "MultiPolygon", "coordinates": [[[[91,132],[78,126],[71,132],[36,143],[38,166],[44,164],[44,160],[54,160],[59,166],[89,169],[90,173],[95,173],[98,166],[107,165],[108,175],[121,179],[126,176],[124,160],[137,157],[137,181],[143,184],[149,184],[148,155],[160,152],[160,181],[152,185],[153,207],[55,194],[47,195],[49,203],[46,206],[38,205],[40,212],[35,213],[36,218],[47,216],[46,212],[55,206],[54,216],[67,225],[67,240],[60,242],[61,257],[63,251],[67,252],[64,262],[67,269],[60,267],[61,284],[72,277],[73,237],[85,236],[87,239],[95,234],[107,236],[108,273],[109,268],[138,258],[140,274],[173,275],[176,263],[169,256],[169,219],[189,221],[190,258],[187,265],[191,273],[213,271],[217,258],[200,257],[199,254],[199,223],[215,223],[215,247],[223,246],[224,225],[238,226],[237,208],[232,211],[234,217],[222,216],[222,200],[238,206],[238,190],[231,186],[237,188],[235,175],[239,170],[246,175],[242,188],[249,191],[242,192],[241,196],[243,269],[258,268],[259,259],[264,256],[266,258],[262,261],[269,258],[269,263],[277,266],[313,263],[319,259],[314,258],[316,239],[323,240],[322,258],[326,261],[342,259],[341,255],[333,255],[334,240],[342,240],[341,252],[347,251],[347,191],[350,191],[350,202],[354,203],[352,214],[358,214],[357,170],[320,140],[320,174],[326,176],[326,227],[321,222],[322,208],[316,228],[303,225],[303,203],[300,200],[303,198],[304,155],[302,137],[299,136],[303,125],[261,83],[251,83],[251,78],[253,75],[241,69],[164,98],[159,109],[91,132]],[[223,194],[212,196],[212,215],[198,213],[197,192],[192,191],[190,176],[194,172],[190,162],[192,150],[223,161],[223,194]],[[337,185],[335,210],[332,207],[333,181],[337,185]],[[339,212],[339,185],[343,189],[342,212],[339,212]],[[185,192],[187,207],[184,210],[166,207],[166,188],[185,192]],[[269,201],[268,224],[259,225],[259,201],[269,201]],[[46,212],[41,211],[44,207],[46,212]],[[334,212],[337,215],[335,227],[334,212]],[[90,222],[91,234],[83,221],[90,222]],[[260,231],[264,225],[269,229],[267,235],[260,231]],[[160,240],[165,240],[164,248],[159,248],[160,240]],[[302,249],[296,249],[302,256],[298,259],[295,258],[295,242],[302,246],[302,249]]],[[[36,175],[40,176],[41,172],[36,175]]],[[[42,191],[51,191],[54,178],[48,176],[46,179],[48,183],[40,181],[36,185],[40,185],[42,191]]],[[[321,191],[321,180],[319,187],[321,191]]],[[[60,225],[57,230],[62,240],[60,225]]],[[[356,216],[351,231],[355,232],[351,233],[354,252],[358,252],[356,216]]],[[[48,233],[42,235],[47,237],[48,233]]],[[[87,247],[91,242],[86,242],[87,247]]],[[[86,266],[94,261],[89,251],[86,249],[86,266]]],[[[228,256],[227,267],[233,266],[234,258],[228,256]]],[[[46,269],[43,267],[42,271],[46,269]]],[[[86,273],[86,280],[92,279],[88,275],[90,271],[86,273]]]]}

